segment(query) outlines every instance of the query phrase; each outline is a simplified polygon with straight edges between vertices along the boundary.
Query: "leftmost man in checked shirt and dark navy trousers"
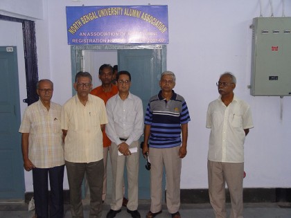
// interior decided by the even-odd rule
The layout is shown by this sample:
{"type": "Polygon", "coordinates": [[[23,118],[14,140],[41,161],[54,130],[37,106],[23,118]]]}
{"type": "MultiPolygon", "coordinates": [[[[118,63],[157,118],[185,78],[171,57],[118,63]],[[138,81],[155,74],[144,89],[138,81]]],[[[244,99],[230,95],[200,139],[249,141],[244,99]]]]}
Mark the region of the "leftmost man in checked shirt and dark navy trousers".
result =
{"type": "Polygon", "coordinates": [[[62,107],[51,102],[51,80],[37,82],[37,95],[39,100],[28,106],[19,129],[22,134],[24,169],[33,170],[36,217],[63,217],[64,147],[60,124],[62,107]],[[48,174],[51,194],[48,194],[48,174]]]}

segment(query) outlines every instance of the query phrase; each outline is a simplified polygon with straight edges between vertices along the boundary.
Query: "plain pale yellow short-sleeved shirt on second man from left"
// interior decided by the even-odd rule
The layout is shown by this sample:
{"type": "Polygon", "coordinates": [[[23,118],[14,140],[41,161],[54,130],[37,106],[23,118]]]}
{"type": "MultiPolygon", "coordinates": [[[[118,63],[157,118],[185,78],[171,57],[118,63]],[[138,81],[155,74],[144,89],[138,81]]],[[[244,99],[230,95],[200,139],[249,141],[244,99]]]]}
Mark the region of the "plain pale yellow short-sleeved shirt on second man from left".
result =
{"type": "Polygon", "coordinates": [[[104,101],[89,94],[86,105],[78,95],[62,107],[62,129],[67,130],[64,139],[64,159],[73,163],[91,163],[103,159],[103,135],[100,125],[107,123],[104,101]]]}

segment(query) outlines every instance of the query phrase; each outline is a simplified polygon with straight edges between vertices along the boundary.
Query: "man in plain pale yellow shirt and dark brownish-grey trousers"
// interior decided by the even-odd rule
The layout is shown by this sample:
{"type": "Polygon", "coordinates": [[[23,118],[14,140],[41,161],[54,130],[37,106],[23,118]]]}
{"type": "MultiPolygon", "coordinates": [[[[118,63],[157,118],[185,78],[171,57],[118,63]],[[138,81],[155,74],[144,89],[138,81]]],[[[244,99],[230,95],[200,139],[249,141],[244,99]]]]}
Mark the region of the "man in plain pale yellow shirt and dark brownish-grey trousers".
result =
{"type": "Polygon", "coordinates": [[[78,72],[73,87],[77,94],[62,107],[64,159],[70,188],[72,217],[84,217],[82,181],[86,173],[90,191],[89,217],[102,215],[103,135],[107,123],[105,104],[92,96],[90,73],[78,72]]]}

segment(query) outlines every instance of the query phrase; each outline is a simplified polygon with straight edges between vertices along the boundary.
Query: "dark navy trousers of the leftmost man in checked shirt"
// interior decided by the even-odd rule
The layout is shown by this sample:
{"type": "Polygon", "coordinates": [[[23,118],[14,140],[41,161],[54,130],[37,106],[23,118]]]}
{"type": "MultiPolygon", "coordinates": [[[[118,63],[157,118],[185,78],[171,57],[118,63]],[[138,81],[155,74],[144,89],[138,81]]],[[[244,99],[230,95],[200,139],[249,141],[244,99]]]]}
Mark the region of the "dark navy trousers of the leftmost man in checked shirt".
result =
{"type": "Polygon", "coordinates": [[[63,181],[64,165],[51,168],[33,168],[33,194],[37,218],[64,217],[63,181]],[[51,185],[49,197],[48,174],[51,185]]]}

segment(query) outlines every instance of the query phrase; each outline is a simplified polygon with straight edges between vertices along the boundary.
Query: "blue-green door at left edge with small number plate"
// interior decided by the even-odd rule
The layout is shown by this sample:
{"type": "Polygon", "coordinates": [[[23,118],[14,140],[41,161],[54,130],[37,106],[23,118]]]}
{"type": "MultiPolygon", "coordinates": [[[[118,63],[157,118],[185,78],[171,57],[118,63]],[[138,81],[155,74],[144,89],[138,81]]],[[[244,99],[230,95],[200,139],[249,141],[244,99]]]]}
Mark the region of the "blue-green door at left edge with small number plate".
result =
{"type": "Polygon", "coordinates": [[[0,47],[0,199],[24,199],[17,49],[0,47]]]}

